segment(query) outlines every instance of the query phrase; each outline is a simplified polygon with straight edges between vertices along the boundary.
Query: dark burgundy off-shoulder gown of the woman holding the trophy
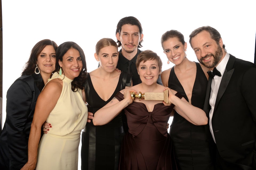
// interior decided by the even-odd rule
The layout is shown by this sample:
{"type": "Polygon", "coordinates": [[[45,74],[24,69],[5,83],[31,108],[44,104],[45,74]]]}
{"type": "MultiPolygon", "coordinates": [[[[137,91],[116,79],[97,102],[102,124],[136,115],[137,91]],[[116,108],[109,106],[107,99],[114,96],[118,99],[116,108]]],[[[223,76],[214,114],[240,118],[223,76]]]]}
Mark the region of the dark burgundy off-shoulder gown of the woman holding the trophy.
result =
{"type": "MultiPolygon", "coordinates": [[[[118,92],[115,97],[121,101],[123,94],[118,92]]],[[[144,103],[135,101],[125,107],[129,132],[122,142],[120,170],[178,169],[171,137],[166,130],[173,107],[157,103],[153,111],[148,112],[144,103]]]]}

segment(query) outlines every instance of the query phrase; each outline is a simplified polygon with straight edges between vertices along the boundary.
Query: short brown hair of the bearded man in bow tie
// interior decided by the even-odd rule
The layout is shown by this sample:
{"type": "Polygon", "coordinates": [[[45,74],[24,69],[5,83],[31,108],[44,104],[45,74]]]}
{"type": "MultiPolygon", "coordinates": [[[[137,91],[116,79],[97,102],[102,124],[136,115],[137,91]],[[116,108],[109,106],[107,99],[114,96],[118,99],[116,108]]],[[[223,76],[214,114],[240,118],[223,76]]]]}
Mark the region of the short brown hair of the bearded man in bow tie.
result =
{"type": "MultiPolygon", "coordinates": [[[[193,32],[191,32],[191,34],[189,35],[189,43],[190,46],[192,47],[191,44],[191,39],[196,36],[197,34],[199,34],[202,31],[207,31],[209,32],[211,38],[219,45],[219,39],[221,39],[221,34],[219,33],[219,31],[217,31],[215,28],[210,27],[210,26],[203,26],[200,28],[195,29],[193,32]]],[[[225,50],[225,44],[222,45],[223,49],[225,50]]],[[[192,47],[193,48],[193,47],[192,47]]]]}

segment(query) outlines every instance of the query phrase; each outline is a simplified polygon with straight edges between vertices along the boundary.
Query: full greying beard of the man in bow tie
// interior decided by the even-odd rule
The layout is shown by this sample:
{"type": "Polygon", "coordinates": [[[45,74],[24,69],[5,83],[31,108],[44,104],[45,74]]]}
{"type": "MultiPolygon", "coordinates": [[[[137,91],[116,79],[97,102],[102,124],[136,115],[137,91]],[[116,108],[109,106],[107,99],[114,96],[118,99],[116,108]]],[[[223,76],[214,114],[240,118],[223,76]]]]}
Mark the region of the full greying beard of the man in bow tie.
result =
{"type": "Polygon", "coordinates": [[[214,68],[217,66],[217,64],[219,63],[219,61],[221,61],[222,59],[222,55],[223,55],[223,52],[222,52],[222,49],[221,49],[221,46],[218,44],[218,48],[217,50],[215,51],[215,54],[207,54],[206,56],[204,57],[201,57],[199,61],[199,63],[201,63],[202,65],[204,65],[206,68],[214,68]],[[212,56],[213,57],[213,61],[209,61],[209,62],[203,62],[203,60],[207,57],[210,57],[212,56]]]}

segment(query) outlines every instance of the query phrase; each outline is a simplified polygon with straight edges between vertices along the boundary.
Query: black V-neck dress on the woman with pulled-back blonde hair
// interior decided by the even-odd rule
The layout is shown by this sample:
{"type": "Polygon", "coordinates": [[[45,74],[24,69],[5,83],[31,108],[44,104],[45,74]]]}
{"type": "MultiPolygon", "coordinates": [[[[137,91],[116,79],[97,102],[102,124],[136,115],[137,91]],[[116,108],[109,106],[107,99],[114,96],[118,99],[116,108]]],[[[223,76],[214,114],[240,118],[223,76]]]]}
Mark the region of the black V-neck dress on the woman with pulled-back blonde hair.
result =
{"type": "MultiPolygon", "coordinates": [[[[121,72],[117,87],[112,96],[104,101],[93,88],[90,74],[87,73],[85,95],[88,111],[95,113],[111,101],[126,84],[131,82],[131,75],[121,72]]],[[[106,87],[107,88],[107,87],[106,87]]],[[[118,169],[121,141],[124,136],[122,113],[106,125],[94,126],[93,121],[87,122],[82,132],[81,169],[109,170],[118,169]]]]}

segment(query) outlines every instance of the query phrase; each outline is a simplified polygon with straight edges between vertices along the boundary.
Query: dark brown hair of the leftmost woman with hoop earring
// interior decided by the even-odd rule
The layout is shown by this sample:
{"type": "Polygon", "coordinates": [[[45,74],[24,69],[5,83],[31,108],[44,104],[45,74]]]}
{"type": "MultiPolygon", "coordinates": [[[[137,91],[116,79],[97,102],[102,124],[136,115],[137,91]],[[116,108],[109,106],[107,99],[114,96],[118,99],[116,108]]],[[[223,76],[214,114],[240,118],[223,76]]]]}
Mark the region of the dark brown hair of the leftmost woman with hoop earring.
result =
{"type": "MultiPolygon", "coordinates": [[[[58,45],[54,41],[51,41],[49,39],[44,39],[36,43],[31,50],[29,60],[25,64],[21,75],[31,75],[34,73],[35,67],[36,67],[35,65],[37,64],[38,55],[43,51],[46,45],[52,45],[55,51],[57,50],[57,47],[58,47],[58,45]]],[[[56,63],[57,63],[57,60],[56,60],[56,63]]]]}

